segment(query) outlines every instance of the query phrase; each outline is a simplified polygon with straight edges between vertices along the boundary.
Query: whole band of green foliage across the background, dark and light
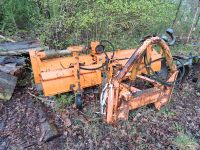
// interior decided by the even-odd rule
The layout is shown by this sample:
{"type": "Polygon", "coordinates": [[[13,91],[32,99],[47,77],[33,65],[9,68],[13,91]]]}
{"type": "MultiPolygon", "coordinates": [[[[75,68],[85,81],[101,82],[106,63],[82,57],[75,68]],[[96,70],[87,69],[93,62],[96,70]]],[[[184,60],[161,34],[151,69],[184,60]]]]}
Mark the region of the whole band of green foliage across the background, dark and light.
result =
{"type": "Polygon", "coordinates": [[[92,39],[132,41],[165,30],[176,5],[173,0],[3,0],[0,7],[2,31],[34,29],[41,41],[59,49],[92,39]]]}

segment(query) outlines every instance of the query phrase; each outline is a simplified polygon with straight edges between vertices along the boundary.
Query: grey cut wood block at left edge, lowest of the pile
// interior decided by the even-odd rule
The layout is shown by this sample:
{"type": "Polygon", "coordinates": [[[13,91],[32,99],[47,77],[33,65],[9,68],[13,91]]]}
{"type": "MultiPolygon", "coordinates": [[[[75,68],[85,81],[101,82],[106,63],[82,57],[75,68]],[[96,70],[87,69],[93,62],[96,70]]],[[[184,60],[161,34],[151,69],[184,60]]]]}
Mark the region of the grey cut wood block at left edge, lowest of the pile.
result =
{"type": "Polygon", "coordinates": [[[0,99],[9,100],[12,97],[17,78],[4,72],[0,72],[0,99]]]}

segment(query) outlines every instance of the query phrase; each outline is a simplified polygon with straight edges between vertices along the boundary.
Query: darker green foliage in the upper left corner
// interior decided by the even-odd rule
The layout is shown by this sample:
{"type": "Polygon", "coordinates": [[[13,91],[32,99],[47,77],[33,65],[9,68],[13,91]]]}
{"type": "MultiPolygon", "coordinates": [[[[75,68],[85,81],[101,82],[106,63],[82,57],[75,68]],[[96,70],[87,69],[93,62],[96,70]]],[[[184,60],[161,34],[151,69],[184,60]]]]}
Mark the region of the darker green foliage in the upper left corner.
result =
{"type": "Polygon", "coordinates": [[[35,2],[31,0],[3,0],[0,2],[0,9],[2,31],[31,28],[31,18],[38,14],[35,2]]]}

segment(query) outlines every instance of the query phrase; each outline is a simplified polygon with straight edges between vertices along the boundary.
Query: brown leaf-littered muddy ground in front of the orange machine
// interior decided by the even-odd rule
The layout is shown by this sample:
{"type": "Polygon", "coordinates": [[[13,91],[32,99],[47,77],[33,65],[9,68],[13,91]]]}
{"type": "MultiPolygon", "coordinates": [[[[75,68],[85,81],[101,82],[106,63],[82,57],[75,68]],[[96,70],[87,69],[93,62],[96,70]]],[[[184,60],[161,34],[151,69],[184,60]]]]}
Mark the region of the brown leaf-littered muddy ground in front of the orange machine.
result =
{"type": "Polygon", "coordinates": [[[200,67],[192,72],[160,111],[145,106],[131,111],[128,121],[113,126],[96,113],[97,94],[86,94],[82,111],[71,104],[60,115],[31,95],[38,95],[31,83],[17,87],[11,100],[0,101],[0,150],[200,149],[200,97],[194,80],[200,77],[200,67]],[[46,142],[41,132],[43,118],[58,130],[46,142]],[[181,143],[182,135],[188,138],[181,143]]]}

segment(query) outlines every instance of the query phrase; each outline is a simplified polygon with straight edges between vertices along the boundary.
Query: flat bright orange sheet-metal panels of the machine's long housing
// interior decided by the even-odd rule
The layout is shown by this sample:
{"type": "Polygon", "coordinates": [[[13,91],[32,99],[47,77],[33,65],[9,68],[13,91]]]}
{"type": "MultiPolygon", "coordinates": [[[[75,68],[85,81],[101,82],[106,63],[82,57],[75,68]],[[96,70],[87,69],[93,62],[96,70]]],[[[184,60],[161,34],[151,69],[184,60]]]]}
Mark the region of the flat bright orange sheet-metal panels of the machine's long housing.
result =
{"type": "MultiPolygon", "coordinates": [[[[134,49],[129,50],[117,50],[114,55],[116,63],[124,66],[130,56],[133,54],[134,49]],[[124,59],[126,58],[126,59],[124,59]],[[120,60],[124,59],[124,60],[120,60]]],[[[70,86],[75,85],[74,77],[74,67],[76,63],[75,57],[66,56],[59,58],[51,58],[46,60],[41,60],[40,57],[43,57],[44,52],[30,51],[30,58],[32,69],[34,73],[34,80],[36,84],[41,83],[43,87],[44,94],[46,96],[55,95],[63,92],[71,91],[70,86]]],[[[108,57],[112,56],[112,52],[107,52],[108,57]]],[[[151,53],[152,60],[158,59],[161,57],[156,51],[151,53]]],[[[100,66],[105,62],[105,54],[95,54],[92,55],[80,55],[79,61],[85,68],[95,68],[100,66]],[[94,64],[94,57],[96,57],[97,64],[94,64]]],[[[141,67],[144,66],[144,63],[141,64],[141,67]]],[[[155,71],[160,70],[161,63],[158,61],[152,64],[152,68],[155,71]]],[[[146,73],[145,69],[142,69],[138,73],[146,73]]],[[[80,85],[81,89],[85,87],[91,87],[94,85],[101,84],[101,71],[90,71],[90,70],[80,70],[80,85]]]]}

